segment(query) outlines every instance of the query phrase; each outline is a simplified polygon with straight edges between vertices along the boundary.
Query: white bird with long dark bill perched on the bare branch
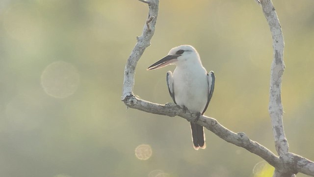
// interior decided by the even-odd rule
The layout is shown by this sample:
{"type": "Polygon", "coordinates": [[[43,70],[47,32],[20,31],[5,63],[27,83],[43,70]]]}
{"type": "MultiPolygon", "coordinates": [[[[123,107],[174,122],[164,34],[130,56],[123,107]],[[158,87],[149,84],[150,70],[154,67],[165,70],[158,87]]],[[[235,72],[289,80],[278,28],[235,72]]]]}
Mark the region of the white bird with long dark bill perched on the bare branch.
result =
{"type": "MultiPolygon", "coordinates": [[[[168,64],[176,65],[173,74],[168,71],[166,77],[170,96],[177,105],[197,112],[199,118],[205,113],[214,91],[214,73],[212,71],[207,73],[199,54],[190,45],[172,48],[166,57],[152,64],[147,70],[158,69],[168,64]]],[[[193,147],[196,150],[204,149],[206,148],[204,127],[195,122],[190,122],[193,147]]]]}

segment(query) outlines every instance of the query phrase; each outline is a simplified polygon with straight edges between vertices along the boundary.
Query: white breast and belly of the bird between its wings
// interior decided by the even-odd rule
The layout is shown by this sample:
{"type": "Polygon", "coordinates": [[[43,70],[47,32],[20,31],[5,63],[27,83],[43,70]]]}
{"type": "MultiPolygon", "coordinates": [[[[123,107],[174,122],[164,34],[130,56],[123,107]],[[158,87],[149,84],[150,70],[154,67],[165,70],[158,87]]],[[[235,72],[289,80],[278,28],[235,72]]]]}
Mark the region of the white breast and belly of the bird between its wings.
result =
{"type": "Polygon", "coordinates": [[[176,67],[173,72],[176,103],[194,112],[203,112],[208,100],[208,82],[203,66],[176,67]]]}

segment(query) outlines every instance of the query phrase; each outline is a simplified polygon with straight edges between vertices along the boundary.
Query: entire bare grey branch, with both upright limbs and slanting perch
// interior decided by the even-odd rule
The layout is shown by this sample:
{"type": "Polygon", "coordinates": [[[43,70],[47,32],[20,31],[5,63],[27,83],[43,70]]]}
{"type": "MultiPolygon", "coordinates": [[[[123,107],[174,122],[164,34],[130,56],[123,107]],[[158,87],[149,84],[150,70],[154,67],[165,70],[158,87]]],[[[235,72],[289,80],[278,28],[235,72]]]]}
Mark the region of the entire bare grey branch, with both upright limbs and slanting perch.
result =
{"type": "MultiPolygon", "coordinates": [[[[122,101],[127,107],[145,111],[147,113],[169,117],[179,116],[188,121],[194,121],[197,118],[197,113],[185,111],[174,103],[161,105],[145,101],[133,94],[136,64],[145,49],[150,46],[150,40],[155,32],[159,2],[159,0],[139,1],[149,5],[149,15],[144,25],[142,35],[137,37],[137,43],[125,66],[122,101]]],[[[279,156],[275,155],[259,143],[250,140],[245,133],[234,133],[230,131],[219,124],[214,118],[201,115],[196,123],[204,126],[226,142],[245,148],[262,157],[270,165],[275,167],[273,177],[291,177],[298,172],[314,177],[314,162],[288,152],[288,141],[284,132],[282,121],[283,107],[281,103],[281,81],[285,68],[283,61],[284,38],[271,0],[257,0],[257,2],[262,5],[263,13],[267,19],[273,37],[274,59],[271,67],[269,114],[273,126],[276,150],[279,156]]]]}

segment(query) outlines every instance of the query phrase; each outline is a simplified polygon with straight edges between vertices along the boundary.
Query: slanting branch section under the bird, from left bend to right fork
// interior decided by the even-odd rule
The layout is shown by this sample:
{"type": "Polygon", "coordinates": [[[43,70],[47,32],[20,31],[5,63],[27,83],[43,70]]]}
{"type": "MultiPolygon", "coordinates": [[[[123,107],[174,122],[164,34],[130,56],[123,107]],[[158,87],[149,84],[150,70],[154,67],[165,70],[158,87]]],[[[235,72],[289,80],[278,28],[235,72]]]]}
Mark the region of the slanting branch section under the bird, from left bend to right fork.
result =
{"type": "MultiPolygon", "coordinates": [[[[180,116],[188,121],[194,121],[197,118],[197,113],[191,113],[187,110],[184,110],[175,103],[160,105],[142,100],[135,95],[127,96],[126,99],[122,101],[124,101],[124,103],[130,108],[145,111],[148,113],[165,115],[169,117],[180,116]]],[[[279,157],[277,157],[274,153],[272,153],[270,150],[263,147],[259,143],[250,140],[245,135],[245,133],[234,133],[219,124],[216,119],[202,115],[198,119],[197,124],[204,126],[226,142],[232,143],[238,147],[245,148],[248,151],[257,154],[265,161],[267,161],[270,165],[275,167],[281,166],[281,161],[279,157]]]]}

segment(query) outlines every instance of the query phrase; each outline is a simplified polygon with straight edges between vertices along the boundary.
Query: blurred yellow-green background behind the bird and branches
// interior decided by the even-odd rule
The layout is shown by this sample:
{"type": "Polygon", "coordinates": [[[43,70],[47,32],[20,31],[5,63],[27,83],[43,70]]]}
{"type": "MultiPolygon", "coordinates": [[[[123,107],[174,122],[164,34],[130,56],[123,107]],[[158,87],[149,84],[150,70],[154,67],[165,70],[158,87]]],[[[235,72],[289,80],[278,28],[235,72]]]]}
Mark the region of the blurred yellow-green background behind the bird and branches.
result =
{"type": "MultiPolygon", "coordinates": [[[[290,151],[314,160],[314,1],[273,2],[286,42],[290,151]]],[[[183,118],[126,110],[124,66],[147,13],[137,0],[0,1],[1,177],[261,176],[262,158],[208,130],[207,148],[195,151],[183,118]],[[135,155],[142,144],[151,148],[147,160],[135,155]]],[[[146,68],[172,47],[193,45],[216,75],[205,115],[275,152],[272,40],[254,0],[160,0],[151,42],[136,68],[135,94],[172,102],[165,75],[174,66],[146,68]]]]}

